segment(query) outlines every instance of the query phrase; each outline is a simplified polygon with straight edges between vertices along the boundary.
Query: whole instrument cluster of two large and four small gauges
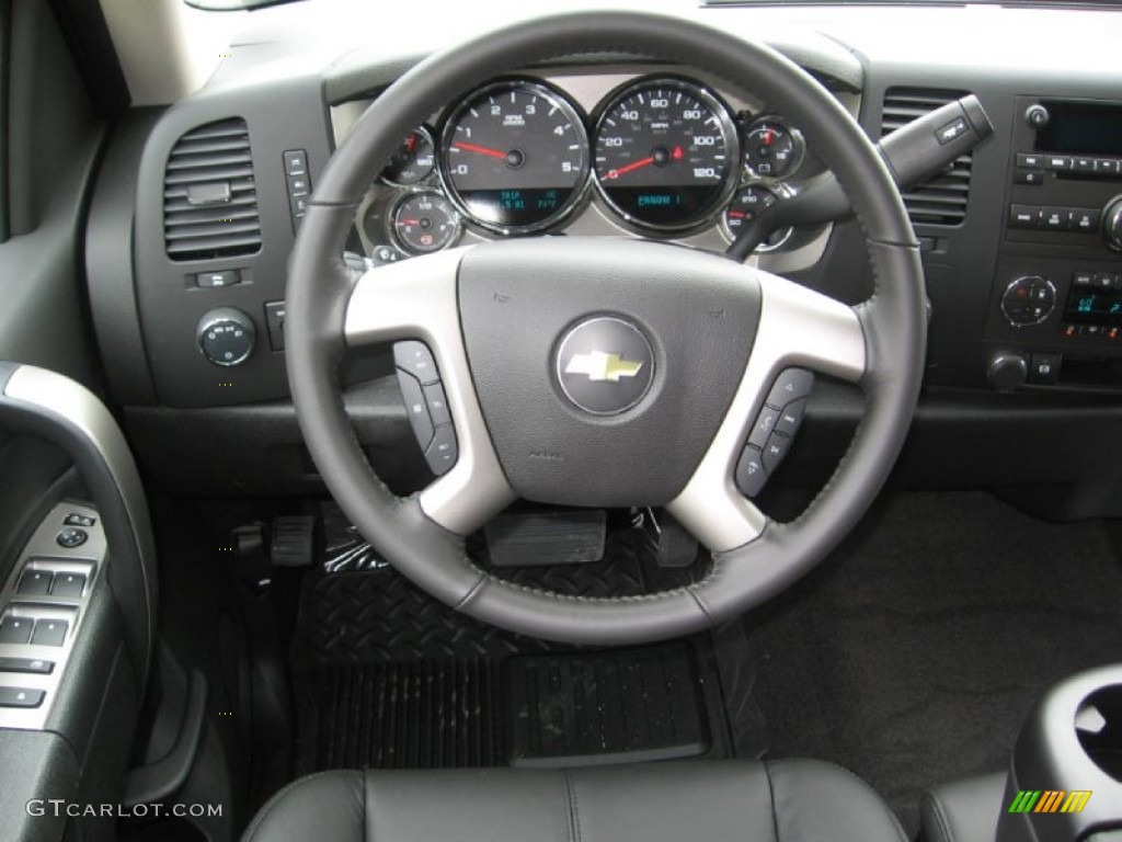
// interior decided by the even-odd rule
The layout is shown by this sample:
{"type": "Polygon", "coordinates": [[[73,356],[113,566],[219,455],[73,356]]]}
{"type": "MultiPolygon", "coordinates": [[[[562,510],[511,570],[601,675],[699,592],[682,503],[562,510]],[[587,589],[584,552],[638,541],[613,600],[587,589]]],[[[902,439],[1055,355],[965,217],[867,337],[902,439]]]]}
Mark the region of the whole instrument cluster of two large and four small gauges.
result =
{"type": "MultiPolygon", "coordinates": [[[[419,126],[365,209],[371,244],[438,251],[484,238],[560,232],[589,204],[618,227],[726,241],[806,177],[807,148],[782,117],[734,111],[708,85],[670,74],[628,79],[590,113],[536,77],[487,84],[419,126]]],[[[820,168],[820,166],[819,166],[820,168]]],[[[761,250],[781,248],[781,231],[761,250]]]]}

